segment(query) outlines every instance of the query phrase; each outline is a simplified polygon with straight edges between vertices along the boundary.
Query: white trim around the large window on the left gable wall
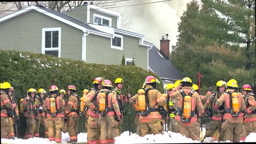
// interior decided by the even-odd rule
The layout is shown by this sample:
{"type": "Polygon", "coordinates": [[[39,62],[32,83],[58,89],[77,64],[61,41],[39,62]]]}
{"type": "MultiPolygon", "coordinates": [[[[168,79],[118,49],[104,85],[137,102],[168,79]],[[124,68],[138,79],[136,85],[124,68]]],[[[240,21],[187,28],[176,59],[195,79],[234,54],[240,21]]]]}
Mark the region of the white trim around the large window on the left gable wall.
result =
{"type": "Polygon", "coordinates": [[[45,54],[45,51],[59,51],[59,57],[61,57],[61,27],[54,28],[42,28],[42,53],[45,54]],[[59,31],[59,47],[54,48],[45,48],[45,32],[47,31],[59,31]]]}

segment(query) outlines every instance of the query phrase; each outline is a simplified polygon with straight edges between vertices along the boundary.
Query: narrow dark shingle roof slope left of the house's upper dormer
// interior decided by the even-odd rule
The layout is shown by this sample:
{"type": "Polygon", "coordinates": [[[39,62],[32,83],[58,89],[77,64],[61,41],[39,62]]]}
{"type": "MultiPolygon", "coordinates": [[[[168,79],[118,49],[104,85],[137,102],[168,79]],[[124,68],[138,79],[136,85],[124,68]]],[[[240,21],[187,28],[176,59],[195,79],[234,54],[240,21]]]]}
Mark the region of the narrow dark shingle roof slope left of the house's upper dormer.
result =
{"type": "MultiPolygon", "coordinates": [[[[43,9],[43,10],[45,10],[45,11],[51,13],[51,14],[54,14],[54,15],[56,15],[56,16],[60,16],[60,17],[62,17],[63,19],[66,19],[66,20],[68,20],[68,21],[71,21],[71,22],[73,22],[73,23],[75,23],[75,24],[77,24],[77,25],[79,25],[79,26],[82,26],[82,27],[85,27],[85,28],[88,28],[88,29],[91,29],[91,30],[94,30],[94,31],[98,31],[98,29],[93,28],[93,27],[90,27],[87,23],[84,23],[84,22],[82,22],[82,21],[79,21],[79,20],[77,20],[77,19],[74,19],[73,17],[68,16],[68,15],[66,15],[66,14],[64,14],[64,13],[60,13],[60,12],[57,12],[57,11],[54,11],[54,10],[50,10],[50,9],[45,9],[45,8],[38,7],[38,6],[36,6],[36,7],[37,7],[37,8],[40,8],[40,9],[43,9]]],[[[98,32],[101,32],[101,31],[98,31],[98,32]]]]}

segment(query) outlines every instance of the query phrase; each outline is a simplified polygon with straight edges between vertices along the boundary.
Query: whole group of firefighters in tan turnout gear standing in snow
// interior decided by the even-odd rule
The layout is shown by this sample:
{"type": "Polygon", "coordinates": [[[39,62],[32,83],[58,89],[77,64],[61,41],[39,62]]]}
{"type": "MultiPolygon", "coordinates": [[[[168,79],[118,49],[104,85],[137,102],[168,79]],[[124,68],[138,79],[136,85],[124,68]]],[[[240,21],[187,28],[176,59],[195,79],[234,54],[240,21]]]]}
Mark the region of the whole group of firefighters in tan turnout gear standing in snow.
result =
{"type": "MultiPolygon", "coordinates": [[[[136,134],[139,136],[162,134],[169,119],[168,130],[199,140],[200,131],[203,138],[202,116],[210,118],[204,138],[239,142],[250,133],[256,133],[256,102],[251,86],[243,85],[240,93],[236,80],[220,80],[216,83],[216,92],[212,93],[210,87],[206,95],[199,95],[197,85],[185,77],[174,85],[168,83],[167,94],[161,94],[156,83],[158,79],[147,76],[133,97],[123,94],[121,78],[112,86],[110,80],[97,77],[90,91],[84,89],[81,98],[75,86],[67,87],[68,99],[66,91],[55,85],[50,87],[49,96],[42,88],[38,91],[30,88],[27,96],[20,99],[20,112],[27,122],[25,138],[39,137],[39,128],[43,125],[45,137],[50,141],[61,142],[63,131],[68,132],[70,142],[77,142],[79,116],[84,115],[88,143],[114,143],[114,138],[121,134],[125,103],[136,110],[136,134]]],[[[10,83],[3,82],[0,86],[1,138],[14,139],[13,123],[19,120],[18,101],[10,83]]]]}

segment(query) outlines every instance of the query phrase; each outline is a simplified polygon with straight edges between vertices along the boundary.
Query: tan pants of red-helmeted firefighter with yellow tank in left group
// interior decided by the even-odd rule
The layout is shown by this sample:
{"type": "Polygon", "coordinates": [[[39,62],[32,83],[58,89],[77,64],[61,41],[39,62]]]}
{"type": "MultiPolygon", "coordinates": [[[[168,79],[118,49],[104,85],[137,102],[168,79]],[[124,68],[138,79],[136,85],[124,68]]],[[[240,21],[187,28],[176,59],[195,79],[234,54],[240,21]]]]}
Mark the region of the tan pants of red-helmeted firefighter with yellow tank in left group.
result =
{"type": "Polygon", "coordinates": [[[47,120],[46,121],[46,127],[49,131],[49,140],[55,141],[57,143],[61,142],[61,128],[62,128],[63,122],[62,119],[59,118],[57,120],[47,120]]]}

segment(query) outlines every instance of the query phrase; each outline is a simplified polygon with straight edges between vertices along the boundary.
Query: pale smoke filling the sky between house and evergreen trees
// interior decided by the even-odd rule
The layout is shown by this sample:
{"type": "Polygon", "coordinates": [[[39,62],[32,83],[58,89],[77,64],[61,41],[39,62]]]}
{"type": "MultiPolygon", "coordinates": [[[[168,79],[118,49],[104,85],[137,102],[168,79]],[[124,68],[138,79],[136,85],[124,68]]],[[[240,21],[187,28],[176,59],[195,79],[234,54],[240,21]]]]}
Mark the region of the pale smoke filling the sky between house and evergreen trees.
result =
{"type": "MultiPolygon", "coordinates": [[[[131,5],[139,3],[157,2],[160,0],[148,0],[148,1],[124,1],[117,2],[115,6],[131,5]]],[[[191,0],[173,0],[167,2],[159,2],[152,4],[136,5],[132,7],[120,7],[112,8],[109,10],[116,11],[123,15],[130,16],[129,27],[123,29],[131,32],[136,32],[144,35],[144,40],[149,43],[153,43],[158,49],[160,49],[160,39],[162,35],[168,33],[168,39],[170,39],[171,46],[176,45],[178,35],[178,22],[181,21],[186,5],[191,0]]]]}

